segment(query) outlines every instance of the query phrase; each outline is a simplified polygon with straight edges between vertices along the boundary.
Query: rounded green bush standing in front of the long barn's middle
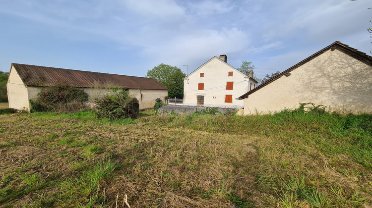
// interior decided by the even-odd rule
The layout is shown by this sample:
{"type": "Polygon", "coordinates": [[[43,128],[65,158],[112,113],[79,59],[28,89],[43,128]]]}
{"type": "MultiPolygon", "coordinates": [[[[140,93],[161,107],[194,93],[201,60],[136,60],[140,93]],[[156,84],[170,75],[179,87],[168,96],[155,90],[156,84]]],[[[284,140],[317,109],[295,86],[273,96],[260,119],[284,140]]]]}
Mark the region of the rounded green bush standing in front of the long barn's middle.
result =
{"type": "Polygon", "coordinates": [[[135,119],[139,114],[139,104],[128,90],[123,87],[110,88],[111,91],[102,98],[96,99],[96,114],[99,118],[111,120],[131,118],[135,119]]]}

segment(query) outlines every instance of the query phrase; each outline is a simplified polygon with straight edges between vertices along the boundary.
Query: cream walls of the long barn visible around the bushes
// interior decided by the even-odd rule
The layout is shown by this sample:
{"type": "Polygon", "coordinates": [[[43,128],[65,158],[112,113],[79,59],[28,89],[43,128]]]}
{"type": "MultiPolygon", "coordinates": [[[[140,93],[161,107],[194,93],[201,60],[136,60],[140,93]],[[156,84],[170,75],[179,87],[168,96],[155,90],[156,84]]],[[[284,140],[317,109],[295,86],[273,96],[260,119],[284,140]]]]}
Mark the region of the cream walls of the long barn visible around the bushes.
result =
{"type": "MultiPolygon", "coordinates": [[[[29,100],[34,100],[37,94],[43,87],[26,86],[17,70],[12,66],[8,82],[6,84],[8,92],[9,107],[30,111],[29,100]]],[[[103,88],[80,88],[88,94],[88,102],[93,103],[96,98],[102,94],[106,94],[106,89],[103,88]]],[[[168,97],[167,90],[144,90],[144,89],[129,89],[129,93],[139,101],[139,109],[152,108],[155,105],[155,99],[159,98],[164,103],[168,97]]]]}

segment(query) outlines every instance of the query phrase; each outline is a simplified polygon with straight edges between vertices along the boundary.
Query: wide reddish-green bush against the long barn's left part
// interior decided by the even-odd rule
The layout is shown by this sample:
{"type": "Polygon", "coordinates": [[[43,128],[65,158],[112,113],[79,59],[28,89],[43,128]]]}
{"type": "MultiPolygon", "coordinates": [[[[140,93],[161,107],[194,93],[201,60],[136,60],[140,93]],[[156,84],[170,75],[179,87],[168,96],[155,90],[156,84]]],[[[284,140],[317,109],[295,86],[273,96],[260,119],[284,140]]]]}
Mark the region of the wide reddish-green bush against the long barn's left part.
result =
{"type": "Polygon", "coordinates": [[[61,111],[61,109],[71,111],[69,107],[82,108],[86,101],[88,101],[88,94],[83,90],[58,83],[55,86],[43,88],[38,93],[37,99],[30,101],[30,104],[31,111],[61,111]]]}

